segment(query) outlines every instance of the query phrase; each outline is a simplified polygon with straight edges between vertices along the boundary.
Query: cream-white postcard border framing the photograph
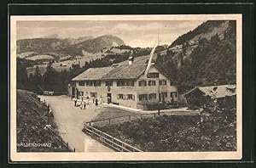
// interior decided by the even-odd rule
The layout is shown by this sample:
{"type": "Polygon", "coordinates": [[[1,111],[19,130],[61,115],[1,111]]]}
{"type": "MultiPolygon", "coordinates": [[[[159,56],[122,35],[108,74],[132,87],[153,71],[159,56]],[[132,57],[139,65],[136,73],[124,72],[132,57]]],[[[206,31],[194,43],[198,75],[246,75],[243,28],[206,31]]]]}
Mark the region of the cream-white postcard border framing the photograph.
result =
{"type": "MultiPolygon", "coordinates": [[[[10,16],[10,161],[241,160],[242,158],[242,15],[44,15],[10,16]],[[18,20],[236,20],[236,140],[232,152],[24,153],[16,150],[16,21],[18,20]]],[[[82,128],[81,128],[82,129],[82,128]]]]}

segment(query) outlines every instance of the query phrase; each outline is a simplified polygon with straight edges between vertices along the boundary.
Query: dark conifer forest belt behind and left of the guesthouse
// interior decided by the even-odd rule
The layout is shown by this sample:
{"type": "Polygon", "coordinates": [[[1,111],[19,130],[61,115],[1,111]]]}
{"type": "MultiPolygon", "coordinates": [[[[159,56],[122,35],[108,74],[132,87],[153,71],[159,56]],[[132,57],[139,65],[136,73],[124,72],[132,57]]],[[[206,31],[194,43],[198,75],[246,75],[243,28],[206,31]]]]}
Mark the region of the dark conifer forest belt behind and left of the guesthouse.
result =
{"type": "MultiPolygon", "coordinates": [[[[129,48],[125,46],[119,47],[129,48]]],[[[32,67],[34,61],[28,59],[17,58],[17,88],[24,89],[31,92],[43,92],[50,90],[55,92],[67,92],[68,83],[73,77],[78,76],[84,70],[89,68],[110,66],[119,62],[125,61],[129,56],[143,56],[150,53],[150,48],[133,48],[131,52],[125,53],[109,53],[102,59],[90,60],[85,62],[84,66],[79,64],[72,64],[68,70],[57,71],[53,68],[53,64],[47,64],[45,73],[42,74],[38,65],[35,65],[35,72],[27,75],[27,67],[32,67]]]]}

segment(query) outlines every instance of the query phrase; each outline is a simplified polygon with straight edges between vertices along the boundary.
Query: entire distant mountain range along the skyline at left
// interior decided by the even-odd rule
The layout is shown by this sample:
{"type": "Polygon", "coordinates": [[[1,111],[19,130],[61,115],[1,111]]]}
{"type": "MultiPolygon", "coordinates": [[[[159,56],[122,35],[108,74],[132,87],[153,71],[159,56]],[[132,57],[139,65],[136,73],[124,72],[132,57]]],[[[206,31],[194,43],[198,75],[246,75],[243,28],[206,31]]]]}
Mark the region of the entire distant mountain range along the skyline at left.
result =
{"type": "Polygon", "coordinates": [[[47,38],[21,39],[17,41],[17,53],[35,52],[38,54],[55,53],[54,55],[83,55],[83,50],[88,53],[97,53],[104,48],[125,45],[118,36],[105,35],[93,38],[81,36],[79,38],[61,39],[58,35],[46,36],[47,38]],[[55,38],[57,37],[57,38],[55,38]]]}

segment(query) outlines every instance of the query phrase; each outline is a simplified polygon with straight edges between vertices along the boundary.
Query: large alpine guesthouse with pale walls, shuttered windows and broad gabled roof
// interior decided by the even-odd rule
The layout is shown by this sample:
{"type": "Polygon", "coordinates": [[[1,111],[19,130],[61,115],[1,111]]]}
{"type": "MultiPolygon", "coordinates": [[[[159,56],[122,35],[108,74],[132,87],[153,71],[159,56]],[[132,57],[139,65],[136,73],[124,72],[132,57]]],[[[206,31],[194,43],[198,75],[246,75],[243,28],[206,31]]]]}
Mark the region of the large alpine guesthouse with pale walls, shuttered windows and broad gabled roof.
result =
{"type": "Polygon", "coordinates": [[[85,70],[73,78],[70,96],[102,97],[103,102],[138,109],[163,101],[177,102],[177,86],[152,63],[154,49],[150,57],[129,57],[119,64],[85,70]]]}

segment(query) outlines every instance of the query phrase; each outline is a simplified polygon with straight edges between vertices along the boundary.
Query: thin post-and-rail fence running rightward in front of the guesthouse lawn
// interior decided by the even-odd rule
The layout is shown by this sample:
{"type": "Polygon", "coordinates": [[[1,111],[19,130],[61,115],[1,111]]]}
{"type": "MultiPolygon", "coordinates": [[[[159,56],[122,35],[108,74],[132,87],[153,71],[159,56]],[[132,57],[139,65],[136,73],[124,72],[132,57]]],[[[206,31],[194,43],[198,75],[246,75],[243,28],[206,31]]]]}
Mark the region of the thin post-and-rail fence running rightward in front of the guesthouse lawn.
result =
{"type": "MultiPolygon", "coordinates": [[[[199,115],[199,112],[190,112],[190,111],[172,111],[172,112],[160,112],[160,115],[199,115]]],[[[139,115],[123,115],[117,116],[102,120],[90,120],[85,122],[85,124],[89,126],[104,126],[104,125],[112,125],[123,123],[125,121],[132,121],[132,120],[143,120],[146,118],[155,118],[159,116],[158,113],[149,113],[149,114],[139,114],[139,115]]]]}

